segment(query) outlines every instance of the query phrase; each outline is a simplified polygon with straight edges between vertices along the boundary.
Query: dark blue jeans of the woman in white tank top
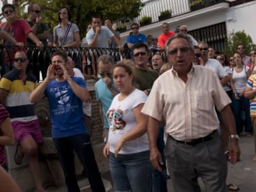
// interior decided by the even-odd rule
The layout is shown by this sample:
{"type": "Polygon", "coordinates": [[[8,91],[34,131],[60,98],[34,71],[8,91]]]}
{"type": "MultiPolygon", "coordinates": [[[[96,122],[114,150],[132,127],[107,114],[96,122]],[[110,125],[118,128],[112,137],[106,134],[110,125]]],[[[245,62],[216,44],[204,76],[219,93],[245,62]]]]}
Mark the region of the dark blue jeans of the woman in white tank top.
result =
{"type": "MultiPolygon", "coordinates": [[[[237,93],[239,95],[239,93],[237,93]]],[[[234,119],[236,120],[236,133],[242,133],[243,127],[245,132],[252,133],[252,122],[250,120],[250,101],[242,96],[240,99],[236,99],[234,94],[232,98],[232,109],[234,119]],[[244,111],[244,120],[242,119],[242,111],[244,111]]]]}

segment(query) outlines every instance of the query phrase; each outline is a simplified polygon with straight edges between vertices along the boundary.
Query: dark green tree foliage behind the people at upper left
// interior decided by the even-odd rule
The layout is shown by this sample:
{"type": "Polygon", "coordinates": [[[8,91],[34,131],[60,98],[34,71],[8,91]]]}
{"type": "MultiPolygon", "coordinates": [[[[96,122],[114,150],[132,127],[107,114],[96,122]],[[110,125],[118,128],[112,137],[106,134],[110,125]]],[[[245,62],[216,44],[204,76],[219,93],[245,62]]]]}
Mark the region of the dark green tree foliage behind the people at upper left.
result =
{"type": "MultiPolygon", "coordinates": [[[[20,15],[25,16],[21,11],[24,9],[27,0],[16,1],[15,7],[19,9],[20,15]]],[[[41,16],[45,23],[51,27],[58,24],[58,12],[62,6],[67,6],[72,14],[71,22],[77,24],[80,29],[81,37],[85,36],[87,25],[92,22],[93,15],[99,15],[103,19],[108,17],[115,21],[124,17],[134,19],[140,14],[143,7],[141,0],[30,0],[30,3],[39,4],[41,16]]],[[[26,10],[27,12],[27,10],[26,10]]]]}

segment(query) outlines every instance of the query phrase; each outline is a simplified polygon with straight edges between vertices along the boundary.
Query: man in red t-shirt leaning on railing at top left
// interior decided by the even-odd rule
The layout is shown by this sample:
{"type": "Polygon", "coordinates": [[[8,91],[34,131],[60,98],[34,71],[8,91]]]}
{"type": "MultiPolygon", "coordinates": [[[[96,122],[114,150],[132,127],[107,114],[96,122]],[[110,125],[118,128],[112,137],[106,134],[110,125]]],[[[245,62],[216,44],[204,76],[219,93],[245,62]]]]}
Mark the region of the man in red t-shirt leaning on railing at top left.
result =
{"type": "MultiPolygon", "coordinates": [[[[16,41],[22,42],[24,46],[27,46],[27,38],[30,38],[30,40],[36,44],[38,49],[43,49],[43,44],[35,36],[27,21],[25,19],[16,18],[15,7],[12,4],[5,4],[2,6],[2,14],[6,19],[6,22],[0,24],[0,27],[3,30],[6,30],[16,41]]],[[[4,40],[4,45],[8,47],[11,43],[4,40]]],[[[12,69],[11,60],[14,58],[15,51],[14,49],[8,49],[9,54],[5,55],[5,64],[8,66],[8,70],[12,69]]]]}

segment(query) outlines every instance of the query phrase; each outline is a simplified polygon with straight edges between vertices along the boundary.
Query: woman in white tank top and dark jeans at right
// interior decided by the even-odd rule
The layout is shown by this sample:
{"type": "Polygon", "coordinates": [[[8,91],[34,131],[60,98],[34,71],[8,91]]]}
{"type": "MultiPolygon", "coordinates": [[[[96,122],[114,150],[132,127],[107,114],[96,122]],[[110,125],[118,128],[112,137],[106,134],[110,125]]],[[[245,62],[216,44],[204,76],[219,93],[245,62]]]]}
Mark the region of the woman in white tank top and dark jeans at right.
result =
{"type": "Polygon", "coordinates": [[[233,75],[230,79],[230,85],[233,90],[232,109],[236,120],[236,131],[240,135],[245,129],[247,136],[252,136],[252,122],[250,120],[250,101],[244,97],[244,90],[247,79],[250,77],[253,69],[244,65],[239,53],[233,56],[234,64],[233,75]]]}

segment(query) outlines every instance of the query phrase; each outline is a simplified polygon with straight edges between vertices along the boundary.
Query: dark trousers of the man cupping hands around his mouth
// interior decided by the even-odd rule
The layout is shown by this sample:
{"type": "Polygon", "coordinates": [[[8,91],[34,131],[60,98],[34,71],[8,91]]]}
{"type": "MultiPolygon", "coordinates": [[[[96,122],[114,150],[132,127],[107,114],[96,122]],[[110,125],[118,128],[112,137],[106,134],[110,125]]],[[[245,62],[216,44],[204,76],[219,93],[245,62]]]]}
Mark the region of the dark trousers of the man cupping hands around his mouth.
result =
{"type": "Polygon", "coordinates": [[[105,187],[101,180],[98,165],[96,164],[90,136],[85,134],[68,136],[66,138],[54,138],[55,147],[58,151],[59,161],[63,169],[67,190],[69,192],[80,191],[75,177],[74,152],[77,153],[83,168],[86,168],[88,180],[92,191],[105,192],[105,187]]]}

